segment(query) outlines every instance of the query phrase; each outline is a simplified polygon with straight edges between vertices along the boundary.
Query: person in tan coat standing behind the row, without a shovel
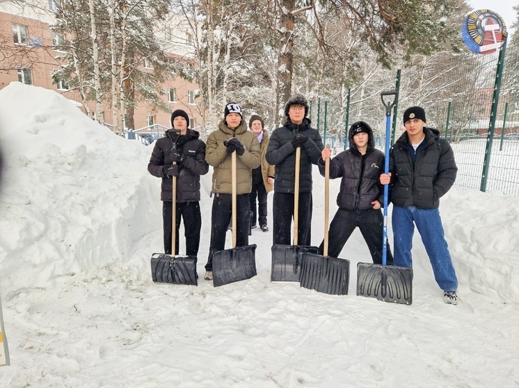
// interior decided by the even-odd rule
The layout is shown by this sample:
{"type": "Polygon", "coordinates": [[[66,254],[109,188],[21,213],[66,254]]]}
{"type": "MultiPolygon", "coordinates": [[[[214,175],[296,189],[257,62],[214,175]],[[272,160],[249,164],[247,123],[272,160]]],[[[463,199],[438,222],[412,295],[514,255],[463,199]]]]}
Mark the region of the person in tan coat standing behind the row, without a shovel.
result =
{"type": "Polygon", "coordinates": [[[250,192],[250,211],[253,218],[250,220],[250,228],[256,228],[257,219],[259,228],[263,232],[268,232],[269,227],[266,226],[266,194],[272,191],[274,182],[274,166],[269,165],[265,159],[266,149],[269,146],[269,133],[263,128],[263,120],[258,115],[250,117],[248,127],[257,136],[257,141],[262,148],[262,164],[257,169],[253,169],[253,189],[250,192]]]}

